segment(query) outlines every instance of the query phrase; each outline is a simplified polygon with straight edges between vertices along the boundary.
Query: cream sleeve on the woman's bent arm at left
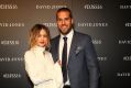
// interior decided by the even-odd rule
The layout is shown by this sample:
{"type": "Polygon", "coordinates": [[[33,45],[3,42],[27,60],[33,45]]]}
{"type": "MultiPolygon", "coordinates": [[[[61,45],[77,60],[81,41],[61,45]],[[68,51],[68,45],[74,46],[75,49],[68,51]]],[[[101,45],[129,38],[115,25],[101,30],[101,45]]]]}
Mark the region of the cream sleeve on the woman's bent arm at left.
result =
{"type": "Polygon", "coordinates": [[[35,61],[35,55],[32,52],[24,54],[25,70],[34,85],[40,85],[45,81],[53,80],[51,75],[47,75],[43,69],[39,69],[39,64],[35,61]]]}

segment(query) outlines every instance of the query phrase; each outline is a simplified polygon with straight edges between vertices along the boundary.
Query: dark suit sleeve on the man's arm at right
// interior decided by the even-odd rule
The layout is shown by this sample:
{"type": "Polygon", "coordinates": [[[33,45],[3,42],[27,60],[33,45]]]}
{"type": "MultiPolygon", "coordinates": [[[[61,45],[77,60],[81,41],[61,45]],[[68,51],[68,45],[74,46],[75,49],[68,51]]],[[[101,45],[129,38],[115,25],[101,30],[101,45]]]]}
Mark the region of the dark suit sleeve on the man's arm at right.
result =
{"type": "Polygon", "coordinates": [[[98,88],[100,70],[97,61],[97,54],[91,42],[91,37],[88,37],[88,40],[86,40],[85,51],[86,51],[87,67],[89,72],[89,88],[98,88]]]}

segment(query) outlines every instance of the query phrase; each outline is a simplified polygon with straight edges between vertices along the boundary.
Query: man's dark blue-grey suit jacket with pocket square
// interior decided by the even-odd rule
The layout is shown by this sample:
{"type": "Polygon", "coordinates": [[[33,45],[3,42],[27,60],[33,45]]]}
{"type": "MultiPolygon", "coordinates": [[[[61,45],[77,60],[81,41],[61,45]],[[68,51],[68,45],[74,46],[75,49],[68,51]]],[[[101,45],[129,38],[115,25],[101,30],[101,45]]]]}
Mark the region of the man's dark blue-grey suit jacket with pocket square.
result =
{"type": "MultiPolygon", "coordinates": [[[[58,59],[59,37],[58,35],[51,41],[54,62],[58,59]]],[[[67,69],[72,88],[98,88],[100,73],[89,35],[74,32],[67,69]]]]}

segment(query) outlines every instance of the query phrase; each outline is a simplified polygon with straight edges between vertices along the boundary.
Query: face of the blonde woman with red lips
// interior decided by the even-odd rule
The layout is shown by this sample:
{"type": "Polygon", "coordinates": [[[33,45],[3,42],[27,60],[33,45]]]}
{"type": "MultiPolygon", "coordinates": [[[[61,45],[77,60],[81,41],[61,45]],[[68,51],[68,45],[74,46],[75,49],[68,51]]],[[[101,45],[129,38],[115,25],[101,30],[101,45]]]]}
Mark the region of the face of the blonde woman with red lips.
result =
{"type": "Polygon", "coordinates": [[[44,47],[47,45],[47,33],[45,30],[41,30],[39,35],[36,36],[36,45],[44,47]]]}

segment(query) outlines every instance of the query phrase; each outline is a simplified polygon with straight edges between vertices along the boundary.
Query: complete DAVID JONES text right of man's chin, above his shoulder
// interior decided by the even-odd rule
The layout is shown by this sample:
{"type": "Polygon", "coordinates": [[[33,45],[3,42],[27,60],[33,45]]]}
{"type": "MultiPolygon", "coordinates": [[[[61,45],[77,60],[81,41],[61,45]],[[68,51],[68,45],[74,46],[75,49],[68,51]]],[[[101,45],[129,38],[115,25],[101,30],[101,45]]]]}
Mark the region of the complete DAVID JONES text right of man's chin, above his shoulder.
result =
{"type": "Polygon", "coordinates": [[[78,23],[78,26],[108,26],[108,23],[78,23]]]}

